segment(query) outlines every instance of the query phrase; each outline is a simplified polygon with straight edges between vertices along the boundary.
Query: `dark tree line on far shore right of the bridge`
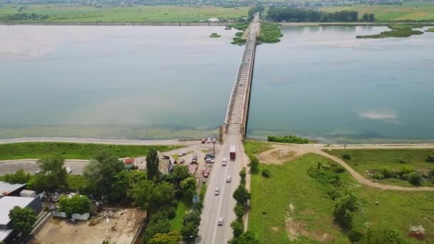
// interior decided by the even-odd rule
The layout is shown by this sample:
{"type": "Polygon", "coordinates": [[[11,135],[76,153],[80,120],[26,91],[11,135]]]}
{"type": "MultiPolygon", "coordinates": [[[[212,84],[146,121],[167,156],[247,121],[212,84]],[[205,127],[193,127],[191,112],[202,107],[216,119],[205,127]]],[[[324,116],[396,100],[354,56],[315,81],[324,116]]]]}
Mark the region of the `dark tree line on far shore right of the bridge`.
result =
{"type": "Polygon", "coordinates": [[[375,15],[372,13],[363,14],[363,16],[358,19],[357,11],[343,10],[328,13],[311,9],[270,7],[267,11],[267,19],[276,22],[373,22],[375,21],[375,15]]]}

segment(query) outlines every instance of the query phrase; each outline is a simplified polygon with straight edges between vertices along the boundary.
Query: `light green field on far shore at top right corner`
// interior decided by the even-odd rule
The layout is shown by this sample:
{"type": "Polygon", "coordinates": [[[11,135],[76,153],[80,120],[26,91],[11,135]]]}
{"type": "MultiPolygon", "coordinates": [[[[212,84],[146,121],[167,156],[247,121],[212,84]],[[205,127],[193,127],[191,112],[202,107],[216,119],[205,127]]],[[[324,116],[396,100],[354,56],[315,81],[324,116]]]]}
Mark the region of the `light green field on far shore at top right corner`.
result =
{"type": "Polygon", "coordinates": [[[403,3],[403,5],[354,5],[328,6],[321,11],[335,12],[341,10],[358,11],[358,16],[365,13],[375,14],[378,21],[434,21],[434,3],[403,3]]]}

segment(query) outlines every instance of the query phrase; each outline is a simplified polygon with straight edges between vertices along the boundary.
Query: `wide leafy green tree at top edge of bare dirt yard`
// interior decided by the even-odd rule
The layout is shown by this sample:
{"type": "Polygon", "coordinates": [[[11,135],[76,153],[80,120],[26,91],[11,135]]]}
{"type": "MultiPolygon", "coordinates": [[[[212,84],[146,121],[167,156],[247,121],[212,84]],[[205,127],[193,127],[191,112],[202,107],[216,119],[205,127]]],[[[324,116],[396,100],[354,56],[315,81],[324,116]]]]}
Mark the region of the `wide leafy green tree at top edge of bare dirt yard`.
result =
{"type": "Polygon", "coordinates": [[[89,213],[91,212],[92,202],[86,195],[74,195],[68,198],[62,195],[59,198],[59,210],[71,216],[73,213],[89,213]]]}

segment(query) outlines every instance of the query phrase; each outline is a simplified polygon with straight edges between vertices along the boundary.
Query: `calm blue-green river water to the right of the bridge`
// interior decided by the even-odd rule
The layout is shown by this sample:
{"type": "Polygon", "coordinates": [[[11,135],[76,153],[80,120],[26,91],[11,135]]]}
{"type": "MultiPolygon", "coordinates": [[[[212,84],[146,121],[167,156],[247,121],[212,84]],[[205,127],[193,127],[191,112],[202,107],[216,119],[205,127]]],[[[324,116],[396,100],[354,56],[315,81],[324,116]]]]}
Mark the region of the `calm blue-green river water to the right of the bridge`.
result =
{"type": "Polygon", "coordinates": [[[249,135],[434,139],[434,34],[355,39],[385,29],[288,27],[258,46],[249,135]]]}

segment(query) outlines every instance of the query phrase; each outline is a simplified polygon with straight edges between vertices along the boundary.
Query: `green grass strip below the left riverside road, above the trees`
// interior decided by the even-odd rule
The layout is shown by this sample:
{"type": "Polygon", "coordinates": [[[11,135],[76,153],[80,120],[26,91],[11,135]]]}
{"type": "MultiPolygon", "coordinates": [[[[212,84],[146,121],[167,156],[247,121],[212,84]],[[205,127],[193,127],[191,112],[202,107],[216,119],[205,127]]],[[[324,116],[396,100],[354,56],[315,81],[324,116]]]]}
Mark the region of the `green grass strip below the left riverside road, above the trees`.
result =
{"type": "Polygon", "coordinates": [[[130,146],[93,143],[10,143],[0,144],[0,160],[46,158],[61,155],[65,159],[91,159],[99,151],[108,151],[118,158],[146,156],[150,148],[164,152],[182,146],[130,146]]]}

